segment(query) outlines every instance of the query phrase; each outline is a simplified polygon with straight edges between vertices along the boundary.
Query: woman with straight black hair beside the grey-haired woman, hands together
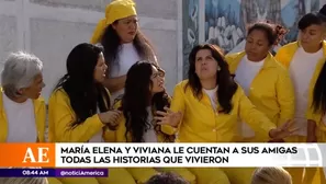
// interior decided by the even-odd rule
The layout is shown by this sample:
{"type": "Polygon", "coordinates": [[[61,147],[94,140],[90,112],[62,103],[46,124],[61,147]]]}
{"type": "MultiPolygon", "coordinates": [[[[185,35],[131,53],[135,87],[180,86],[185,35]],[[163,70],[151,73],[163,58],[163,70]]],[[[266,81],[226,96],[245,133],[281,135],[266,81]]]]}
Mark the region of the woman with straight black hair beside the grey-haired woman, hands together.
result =
{"type": "MultiPolygon", "coordinates": [[[[67,74],[50,95],[49,141],[102,142],[103,130],[114,129],[121,112],[110,108],[110,96],[102,85],[106,65],[102,48],[79,44],[67,58],[67,74]]],[[[106,130],[106,134],[114,131],[106,130]]],[[[134,184],[124,169],[110,169],[109,177],[63,177],[65,184],[134,184]]]]}

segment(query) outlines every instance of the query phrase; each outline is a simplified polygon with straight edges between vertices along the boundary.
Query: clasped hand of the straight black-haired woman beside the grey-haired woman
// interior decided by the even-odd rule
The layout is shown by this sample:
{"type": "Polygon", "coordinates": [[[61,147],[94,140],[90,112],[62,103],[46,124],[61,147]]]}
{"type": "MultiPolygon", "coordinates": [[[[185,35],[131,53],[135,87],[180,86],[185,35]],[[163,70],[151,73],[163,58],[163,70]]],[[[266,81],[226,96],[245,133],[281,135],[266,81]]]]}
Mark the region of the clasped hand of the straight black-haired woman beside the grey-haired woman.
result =
{"type": "Polygon", "coordinates": [[[117,110],[111,110],[105,113],[99,114],[99,117],[105,126],[110,129],[114,130],[117,127],[119,118],[121,117],[122,112],[117,110]]]}

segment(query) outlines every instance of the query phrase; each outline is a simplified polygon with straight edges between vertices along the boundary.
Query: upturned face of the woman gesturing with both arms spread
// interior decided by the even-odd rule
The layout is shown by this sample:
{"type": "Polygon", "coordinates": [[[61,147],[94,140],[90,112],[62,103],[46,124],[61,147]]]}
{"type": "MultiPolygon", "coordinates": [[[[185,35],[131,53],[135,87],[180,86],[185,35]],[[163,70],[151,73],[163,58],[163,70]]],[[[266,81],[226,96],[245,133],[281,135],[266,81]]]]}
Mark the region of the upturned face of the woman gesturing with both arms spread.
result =
{"type": "Polygon", "coordinates": [[[200,80],[216,79],[218,64],[210,49],[201,49],[195,55],[195,73],[200,80]]]}

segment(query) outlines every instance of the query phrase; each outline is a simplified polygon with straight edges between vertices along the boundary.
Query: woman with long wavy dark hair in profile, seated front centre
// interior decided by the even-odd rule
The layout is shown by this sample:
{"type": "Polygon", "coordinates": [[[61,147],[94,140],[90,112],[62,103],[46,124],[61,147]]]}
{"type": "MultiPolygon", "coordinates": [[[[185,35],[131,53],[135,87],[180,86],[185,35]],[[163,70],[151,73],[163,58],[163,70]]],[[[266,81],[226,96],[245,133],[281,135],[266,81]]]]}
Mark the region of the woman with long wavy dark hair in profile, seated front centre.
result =
{"type": "MultiPolygon", "coordinates": [[[[125,93],[115,107],[123,111],[119,123],[119,142],[173,142],[175,136],[161,131],[153,118],[154,113],[170,106],[170,97],[165,90],[165,71],[148,61],[137,61],[127,72],[125,93]]],[[[159,171],[176,172],[190,183],[195,176],[180,168],[136,168],[128,169],[137,183],[145,183],[159,171]]]]}

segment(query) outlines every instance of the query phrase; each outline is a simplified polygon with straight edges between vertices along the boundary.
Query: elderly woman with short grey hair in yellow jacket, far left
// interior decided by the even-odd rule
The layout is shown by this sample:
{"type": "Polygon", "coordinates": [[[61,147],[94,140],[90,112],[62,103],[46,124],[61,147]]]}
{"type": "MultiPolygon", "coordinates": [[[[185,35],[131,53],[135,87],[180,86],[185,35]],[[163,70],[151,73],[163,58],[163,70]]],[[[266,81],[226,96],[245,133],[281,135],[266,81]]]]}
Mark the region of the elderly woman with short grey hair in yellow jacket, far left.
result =
{"type": "MultiPolygon", "coordinates": [[[[46,108],[41,97],[43,64],[34,55],[12,53],[0,88],[0,142],[44,142],[46,108]]],[[[49,184],[59,184],[48,179],[49,184]]]]}

